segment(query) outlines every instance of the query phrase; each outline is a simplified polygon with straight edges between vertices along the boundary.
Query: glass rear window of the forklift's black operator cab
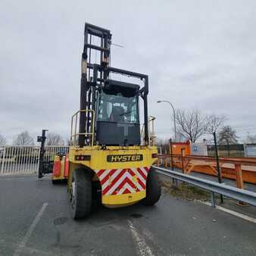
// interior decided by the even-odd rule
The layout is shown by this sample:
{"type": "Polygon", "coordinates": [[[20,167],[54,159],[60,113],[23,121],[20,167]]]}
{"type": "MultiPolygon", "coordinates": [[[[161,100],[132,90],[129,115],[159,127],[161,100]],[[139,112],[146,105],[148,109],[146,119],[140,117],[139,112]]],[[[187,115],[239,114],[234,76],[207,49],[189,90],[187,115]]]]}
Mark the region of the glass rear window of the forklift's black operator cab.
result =
{"type": "Polygon", "coordinates": [[[139,123],[138,97],[101,92],[98,97],[98,121],[139,123]]]}

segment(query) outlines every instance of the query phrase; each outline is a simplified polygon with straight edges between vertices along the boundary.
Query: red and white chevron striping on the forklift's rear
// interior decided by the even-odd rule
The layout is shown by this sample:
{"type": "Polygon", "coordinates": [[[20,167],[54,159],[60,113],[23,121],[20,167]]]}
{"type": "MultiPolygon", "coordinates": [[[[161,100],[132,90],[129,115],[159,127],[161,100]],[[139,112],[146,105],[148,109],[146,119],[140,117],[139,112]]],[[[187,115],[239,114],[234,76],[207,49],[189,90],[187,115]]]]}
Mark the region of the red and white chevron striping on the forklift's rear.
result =
{"type": "Polygon", "coordinates": [[[122,195],[145,190],[148,167],[96,170],[102,195],[122,195]]]}

